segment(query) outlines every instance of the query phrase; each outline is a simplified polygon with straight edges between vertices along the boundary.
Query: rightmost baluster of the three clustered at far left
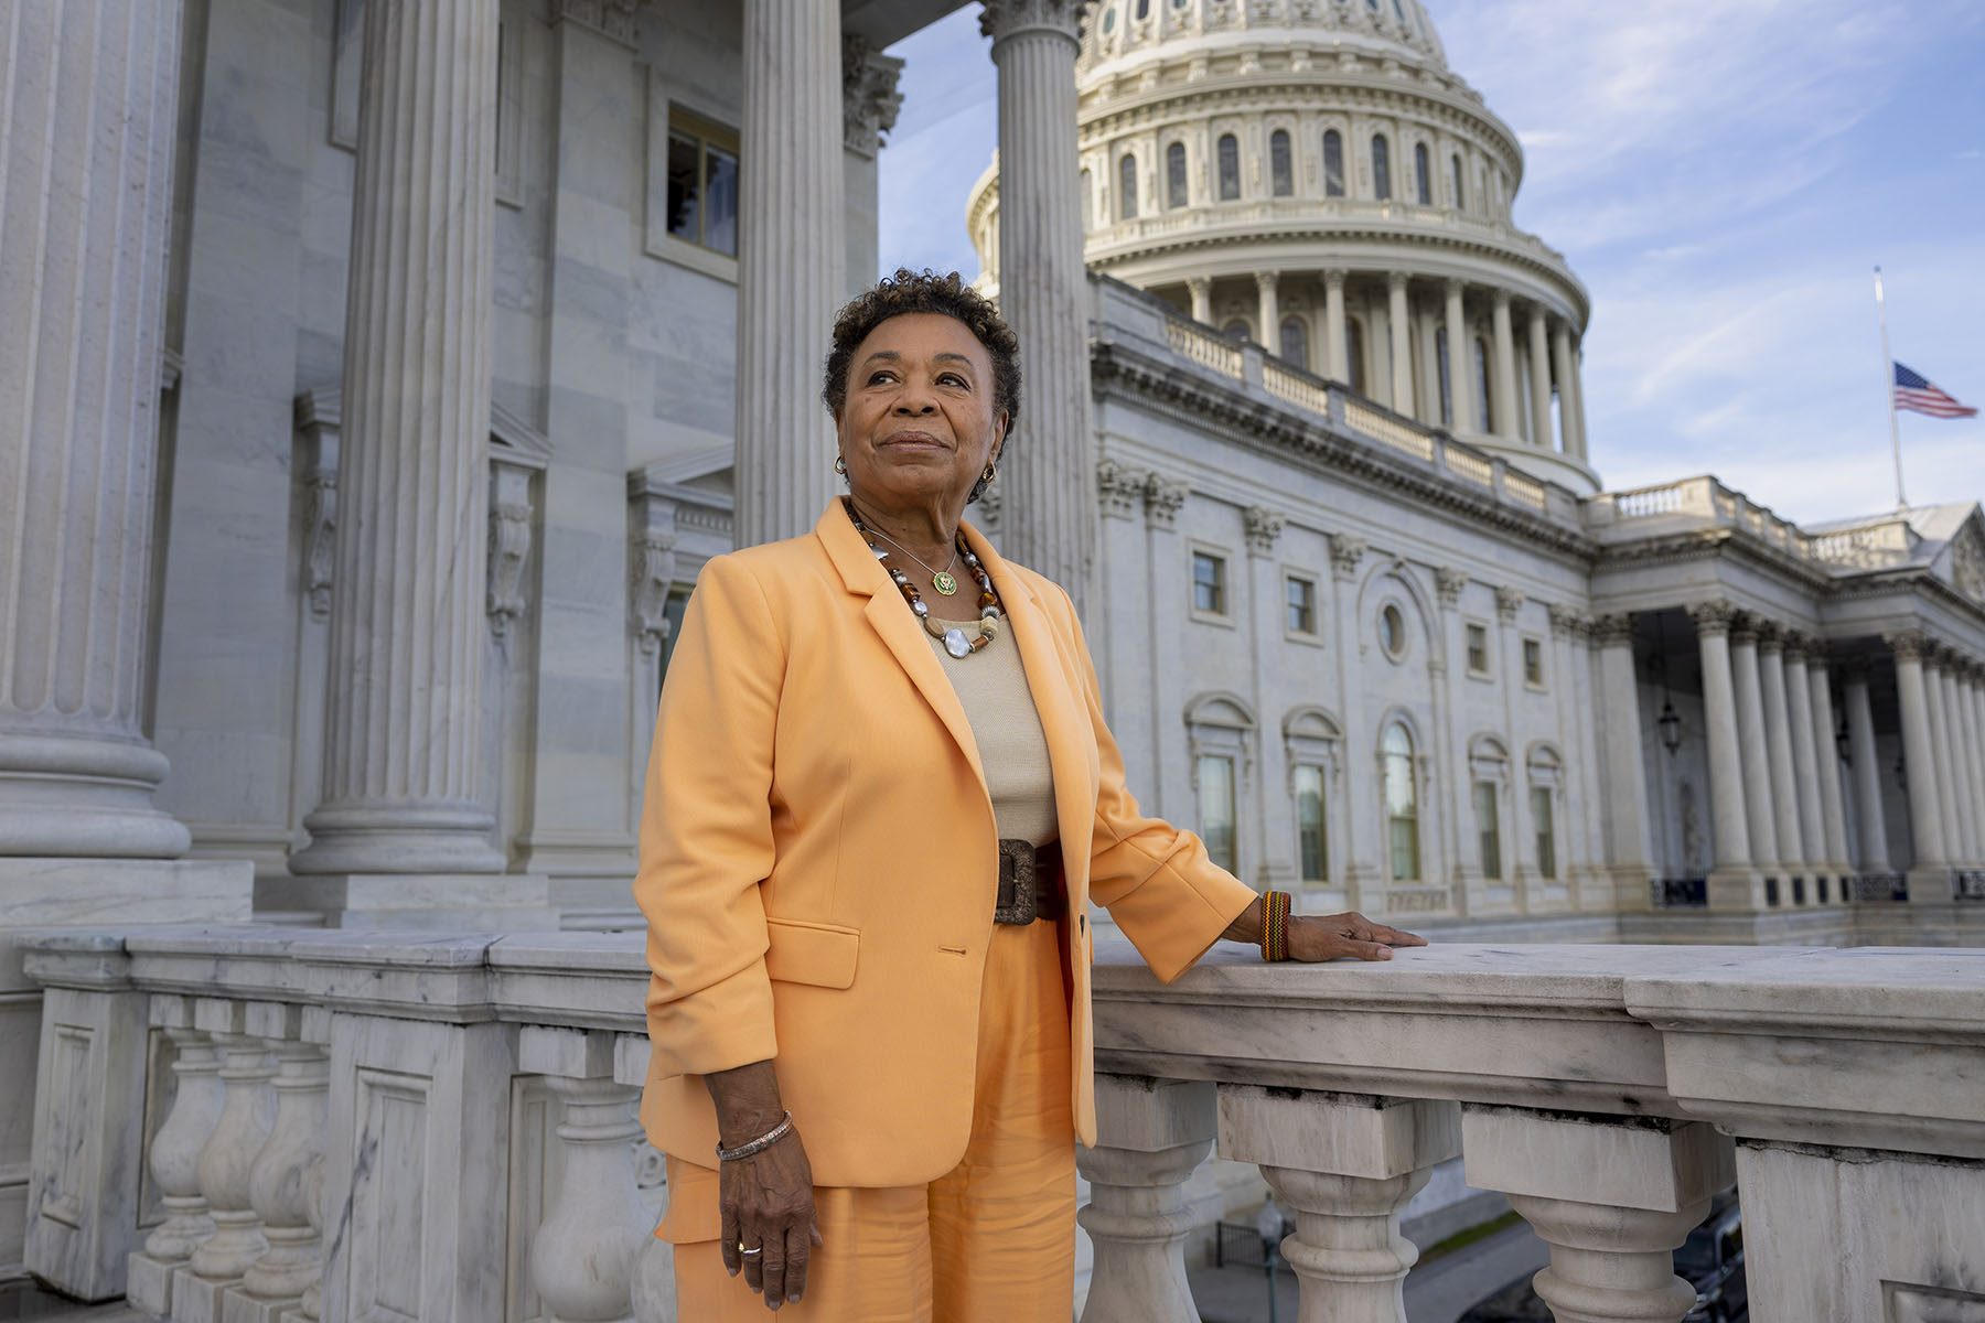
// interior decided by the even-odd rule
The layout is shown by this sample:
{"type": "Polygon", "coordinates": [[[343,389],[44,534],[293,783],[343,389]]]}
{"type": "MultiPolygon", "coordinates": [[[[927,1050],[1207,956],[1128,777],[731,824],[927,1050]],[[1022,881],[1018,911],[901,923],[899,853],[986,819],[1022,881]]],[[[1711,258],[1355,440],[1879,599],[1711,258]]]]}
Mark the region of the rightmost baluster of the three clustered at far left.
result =
{"type": "Polygon", "coordinates": [[[324,1275],[310,1176],[324,1160],[331,1067],[324,1047],[306,1041],[304,1016],[302,1006],[248,1004],[248,1031],[276,1057],[276,1121],[248,1168],[248,1200],[262,1218],[268,1254],[228,1293],[222,1323],[278,1323],[324,1275]]]}

